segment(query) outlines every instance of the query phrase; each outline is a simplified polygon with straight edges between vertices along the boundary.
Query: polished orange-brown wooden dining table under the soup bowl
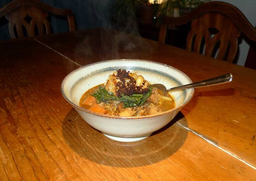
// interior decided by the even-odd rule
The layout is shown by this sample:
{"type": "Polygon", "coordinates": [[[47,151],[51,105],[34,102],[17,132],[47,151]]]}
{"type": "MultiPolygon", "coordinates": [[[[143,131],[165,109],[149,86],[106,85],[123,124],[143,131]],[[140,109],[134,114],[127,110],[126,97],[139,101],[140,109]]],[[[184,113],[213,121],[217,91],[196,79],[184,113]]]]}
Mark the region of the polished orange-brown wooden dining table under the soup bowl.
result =
{"type": "Polygon", "coordinates": [[[0,43],[1,180],[255,180],[256,71],[113,30],[0,43]],[[231,72],[232,83],[196,89],[161,130],[110,140],[62,98],[71,71],[109,59],[166,63],[192,81],[231,72]]]}

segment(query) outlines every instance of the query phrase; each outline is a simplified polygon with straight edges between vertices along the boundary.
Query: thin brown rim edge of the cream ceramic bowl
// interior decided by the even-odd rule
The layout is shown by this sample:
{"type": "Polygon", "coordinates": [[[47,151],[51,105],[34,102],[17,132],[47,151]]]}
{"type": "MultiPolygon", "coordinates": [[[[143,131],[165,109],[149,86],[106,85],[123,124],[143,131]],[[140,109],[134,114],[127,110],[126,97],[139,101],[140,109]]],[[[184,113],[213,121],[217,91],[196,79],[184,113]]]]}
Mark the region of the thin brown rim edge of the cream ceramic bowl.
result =
{"type": "Polygon", "coordinates": [[[80,106],[77,106],[76,104],[74,104],[71,100],[69,100],[69,98],[67,98],[67,96],[65,95],[64,93],[64,83],[66,82],[67,78],[72,75],[73,73],[75,73],[76,71],[79,71],[80,69],[83,69],[87,66],[91,66],[91,65],[95,65],[95,64],[100,64],[100,63],[106,63],[106,62],[113,62],[113,61],[120,61],[120,60],[131,60],[131,61],[143,61],[143,62],[149,62],[149,63],[157,63],[157,64],[160,64],[160,65],[163,65],[163,66],[168,66],[169,68],[172,68],[174,69],[175,71],[178,71],[180,72],[181,74],[184,75],[184,77],[186,77],[189,81],[191,81],[192,83],[192,80],[182,71],[180,71],[179,69],[177,68],[174,68],[173,66],[170,66],[170,65],[167,65],[165,63],[160,63],[160,62],[154,62],[154,61],[150,61],[150,60],[141,60],[141,59],[113,59],[113,60],[103,60],[103,61],[100,61],[100,62],[94,62],[94,63],[90,63],[90,64],[87,64],[87,65],[84,65],[84,66],[81,66],[75,70],[73,70],[72,72],[70,72],[69,74],[66,75],[66,77],[62,80],[62,83],[61,83],[61,94],[62,96],[66,99],[66,101],[72,105],[72,107],[76,108],[76,109],[79,109],[81,110],[82,112],[86,112],[86,113],[89,113],[91,115],[94,115],[94,116],[99,116],[99,117],[105,117],[105,118],[111,118],[111,119],[122,119],[122,120],[130,120],[130,119],[145,119],[145,118],[155,118],[155,117],[158,117],[158,116],[162,116],[162,115],[166,115],[168,113],[171,113],[171,112],[174,112],[176,110],[180,110],[181,107],[185,106],[187,103],[189,103],[189,101],[192,99],[194,93],[195,93],[195,89],[194,88],[191,88],[192,90],[192,94],[190,95],[190,97],[187,98],[187,100],[181,104],[180,106],[178,107],[175,107],[173,109],[170,109],[168,111],[165,111],[165,112],[162,112],[162,113],[157,113],[157,114],[154,114],[154,115],[146,115],[146,116],[131,116],[131,117],[120,117],[120,116],[113,116],[113,115],[105,115],[105,114],[101,114],[101,113],[96,113],[96,112],[93,112],[93,111],[90,111],[90,110],[87,110],[87,109],[84,109],[80,106]]]}

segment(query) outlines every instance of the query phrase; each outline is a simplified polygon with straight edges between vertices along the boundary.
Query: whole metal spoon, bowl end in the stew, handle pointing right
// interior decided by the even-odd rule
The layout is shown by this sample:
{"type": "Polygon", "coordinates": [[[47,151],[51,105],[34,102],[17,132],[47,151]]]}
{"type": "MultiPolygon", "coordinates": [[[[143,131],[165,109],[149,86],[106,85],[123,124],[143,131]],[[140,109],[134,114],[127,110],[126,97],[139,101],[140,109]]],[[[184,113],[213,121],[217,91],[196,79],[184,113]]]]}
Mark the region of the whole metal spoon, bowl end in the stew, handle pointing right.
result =
{"type": "Polygon", "coordinates": [[[206,87],[206,86],[213,86],[213,85],[218,85],[218,84],[223,84],[232,81],[233,75],[232,74],[225,74],[221,75],[219,77],[214,77],[210,78],[207,80],[202,80],[199,82],[194,82],[191,84],[186,84],[183,86],[178,86],[178,87],[172,87],[170,89],[166,90],[166,87],[163,84],[152,84],[151,87],[156,87],[160,91],[163,92],[164,95],[166,95],[167,92],[170,91],[180,91],[184,89],[190,89],[190,88],[195,88],[195,87],[206,87]]]}

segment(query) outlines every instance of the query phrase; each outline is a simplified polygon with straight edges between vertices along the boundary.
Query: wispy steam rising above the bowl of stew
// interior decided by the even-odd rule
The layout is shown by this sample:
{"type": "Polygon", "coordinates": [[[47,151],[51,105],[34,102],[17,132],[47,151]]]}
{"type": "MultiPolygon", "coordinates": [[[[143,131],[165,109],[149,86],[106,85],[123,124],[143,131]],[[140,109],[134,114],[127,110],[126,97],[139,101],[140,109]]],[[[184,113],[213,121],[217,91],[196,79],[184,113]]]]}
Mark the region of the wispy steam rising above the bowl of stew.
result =
{"type": "Polygon", "coordinates": [[[151,45],[140,37],[133,9],[118,15],[107,0],[93,0],[90,3],[92,17],[102,23],[95,31],[82,33],[75,49],[76,60],[81,65],[111,59],[151,59],[151,45]]]}

